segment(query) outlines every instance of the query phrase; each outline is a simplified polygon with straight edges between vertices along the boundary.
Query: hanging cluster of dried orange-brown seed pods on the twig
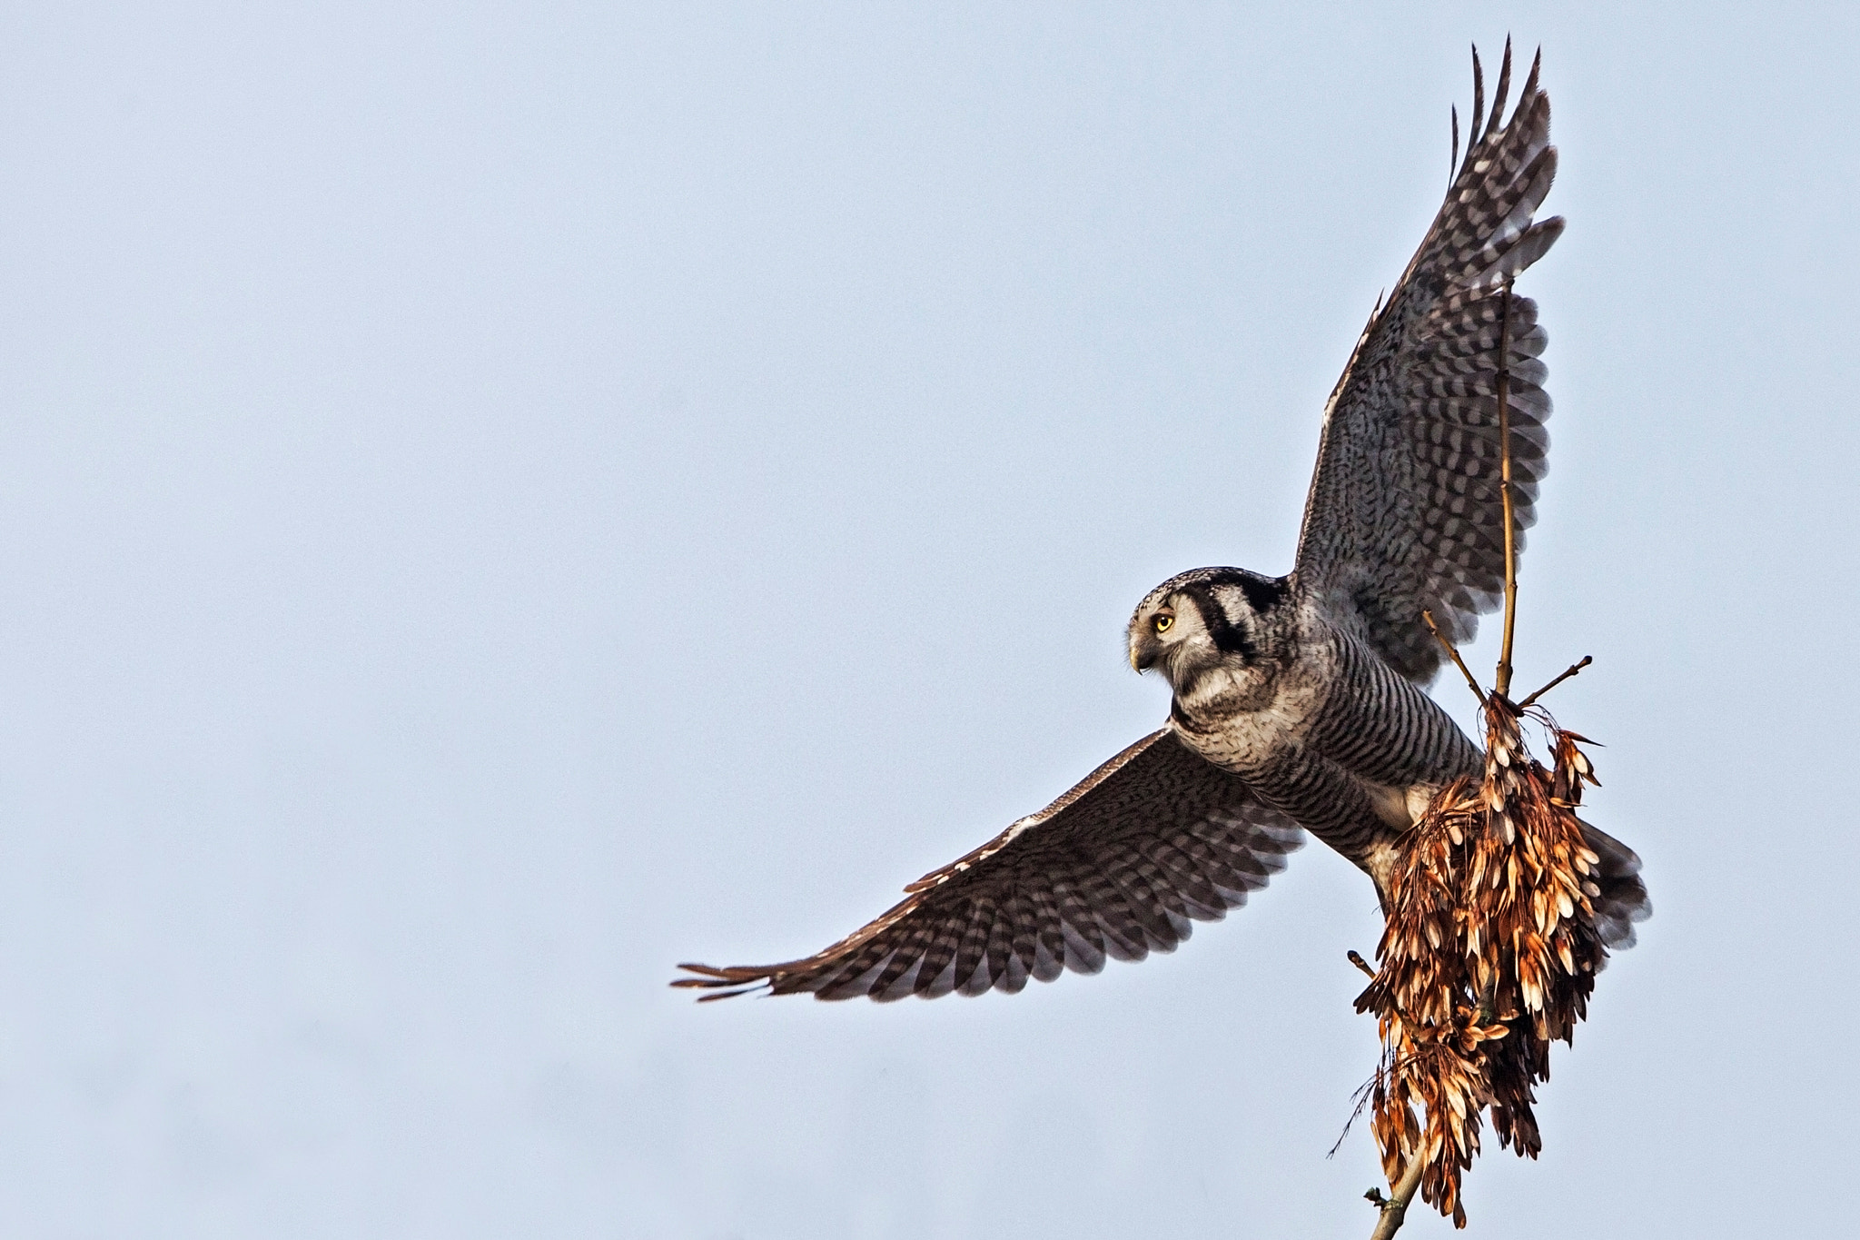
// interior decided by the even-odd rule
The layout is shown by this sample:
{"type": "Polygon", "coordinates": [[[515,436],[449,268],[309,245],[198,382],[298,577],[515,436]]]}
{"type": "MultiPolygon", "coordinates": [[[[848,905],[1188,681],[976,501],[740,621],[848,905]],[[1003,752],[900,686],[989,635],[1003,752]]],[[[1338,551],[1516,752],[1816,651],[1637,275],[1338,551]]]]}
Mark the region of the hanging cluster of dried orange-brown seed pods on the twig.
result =
{"type": "Polygon", "coordinates": [[[1484,716],[1484,779],[1449,785],[1415,824],[1389,883],[1380,970],[1356,1000],[1382,1034],[1371,1102],[1384,1171],[1395,1184],[1425,1158],[1421,1199],[1458,1227],[1481,1112],[1503,1145],[1536,1156],[1531,1104],[1549,1043],[1574,1039],[1607,957],[1590,904],[1600,859],[1575,818],[1596,783],[1585,738],[1544,716],[1546,770],[1512,703],[1492,693],[1484,716]]]}

